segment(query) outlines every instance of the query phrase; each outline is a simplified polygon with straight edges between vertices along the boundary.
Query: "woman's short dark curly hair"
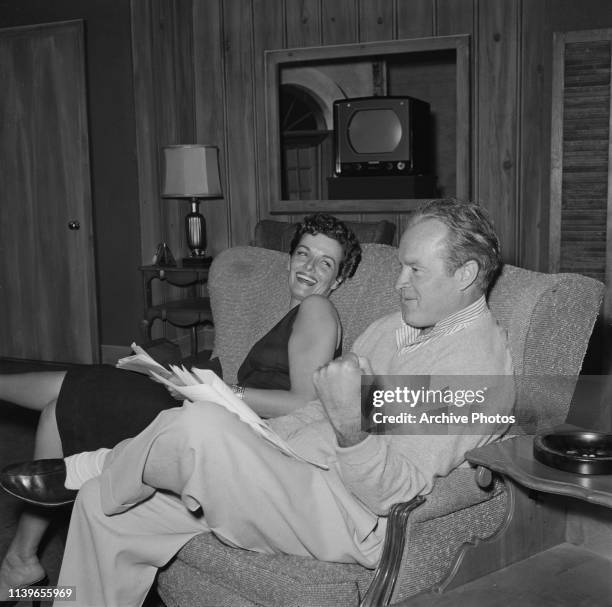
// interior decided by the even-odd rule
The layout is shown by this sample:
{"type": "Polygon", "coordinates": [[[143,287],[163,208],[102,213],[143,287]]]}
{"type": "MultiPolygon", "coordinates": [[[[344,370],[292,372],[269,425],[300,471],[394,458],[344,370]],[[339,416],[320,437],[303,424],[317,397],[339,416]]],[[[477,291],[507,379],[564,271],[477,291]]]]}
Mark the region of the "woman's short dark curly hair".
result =
{"type": "Polygon", "coordinates": [[[343,255],[340,268],[338,269],[338,278],[344,280],[355,274],[355,270],[357,270],[357,266],[361,261],[361,246],[353,230],[344,222],[327,213],[306,215],[295,227],[295,233],[289,247],[290,255],[293,255],[304,234],[312,234],[313,236],[315,234],[323,234],[340,243],[343,255]]]}

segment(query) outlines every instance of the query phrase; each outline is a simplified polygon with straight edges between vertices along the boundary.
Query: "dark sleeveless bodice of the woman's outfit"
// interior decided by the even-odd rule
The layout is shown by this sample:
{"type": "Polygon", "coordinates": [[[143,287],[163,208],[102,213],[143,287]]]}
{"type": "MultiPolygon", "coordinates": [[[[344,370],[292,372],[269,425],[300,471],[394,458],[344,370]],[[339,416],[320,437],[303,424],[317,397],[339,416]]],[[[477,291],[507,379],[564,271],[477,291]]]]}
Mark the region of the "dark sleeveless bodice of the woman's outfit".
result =
{"type": "MultiPolygon", "coordinates": [[[[238,383],[245,388],[290,390],[289,338],[299,306],[295,306],[249,351],[238,369],[238,383]]],[[[340,356],[342,347],[334,352],[340,356]]]]}

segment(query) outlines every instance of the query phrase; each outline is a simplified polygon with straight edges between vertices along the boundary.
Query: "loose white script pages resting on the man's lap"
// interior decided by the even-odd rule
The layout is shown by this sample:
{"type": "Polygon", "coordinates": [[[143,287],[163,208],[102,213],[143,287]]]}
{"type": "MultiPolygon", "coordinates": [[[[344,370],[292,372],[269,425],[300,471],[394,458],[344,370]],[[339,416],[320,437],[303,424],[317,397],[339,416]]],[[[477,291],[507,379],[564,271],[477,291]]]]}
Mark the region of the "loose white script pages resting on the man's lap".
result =
{"type": "Polygon", "coordinates": [[[214,371],[195,367],[188,371],[185,367],[175,365],[169,365],[169,369],[166,369],[140,346],[132,344],[131,348],[134,354],[119,359],[116,364],[117,368],[150,375],[154,380],[165,384],[171,392],[178,393],[191,402],[206,401],[221,405],[236,414],[257,434],[286,455],[313,464],[323,470],[328,469],[325,464],[304,458],[296,453],[285,440],[270,428],[265,420],[261,419],[253,409],[240,400],[214,371]]]}

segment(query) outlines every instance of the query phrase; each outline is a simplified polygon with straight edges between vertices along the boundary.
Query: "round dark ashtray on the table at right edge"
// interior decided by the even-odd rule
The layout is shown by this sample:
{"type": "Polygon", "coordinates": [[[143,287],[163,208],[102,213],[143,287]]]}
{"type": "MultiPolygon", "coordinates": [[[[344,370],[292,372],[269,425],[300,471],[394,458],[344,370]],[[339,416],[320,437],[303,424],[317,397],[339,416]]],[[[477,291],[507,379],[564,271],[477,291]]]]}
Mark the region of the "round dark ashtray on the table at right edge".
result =
{"type": "Polygon", "coordinates": [[[612,474],[612,434],[587,430],[538,434],[533,456],[542,464],[576,474],[612,474]]]}

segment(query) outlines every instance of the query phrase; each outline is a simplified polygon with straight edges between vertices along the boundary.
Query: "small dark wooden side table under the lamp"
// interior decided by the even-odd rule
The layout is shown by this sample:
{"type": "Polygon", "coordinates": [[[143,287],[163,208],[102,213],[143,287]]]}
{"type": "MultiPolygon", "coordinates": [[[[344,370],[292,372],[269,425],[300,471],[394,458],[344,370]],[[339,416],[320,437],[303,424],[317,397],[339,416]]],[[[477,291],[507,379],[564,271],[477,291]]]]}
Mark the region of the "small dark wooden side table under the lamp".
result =
{"type": "Polygon", "coordinates": [[[198,352],[198,325],[212,325],[210,299],[198,296],[198,286],[208,282],[206,267],[166,267],[157,265],[140,266],[144,295],[144,311],[141,328],[145,339],[151,339],[151,326],[156,319],[169,322],[176,327],[191,329],[191,355],[198,352]],[[185,288],[187,297],[161,303],[153,303],[152,283],[166,281],[175,287],[185,288]]]}

